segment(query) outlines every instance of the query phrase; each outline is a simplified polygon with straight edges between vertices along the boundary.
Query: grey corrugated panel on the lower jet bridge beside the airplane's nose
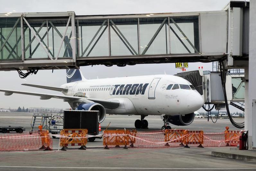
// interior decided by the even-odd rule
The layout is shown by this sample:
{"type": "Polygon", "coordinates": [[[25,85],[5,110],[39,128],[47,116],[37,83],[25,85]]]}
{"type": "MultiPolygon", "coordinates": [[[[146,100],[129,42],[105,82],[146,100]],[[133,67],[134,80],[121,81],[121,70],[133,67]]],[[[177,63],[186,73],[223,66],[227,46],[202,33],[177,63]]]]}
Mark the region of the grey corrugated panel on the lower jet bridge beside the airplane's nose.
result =
{"type": "Polygon", "coordinates": [[[211,72],[211,102],[225,101],[219,72],[211,72]]]}

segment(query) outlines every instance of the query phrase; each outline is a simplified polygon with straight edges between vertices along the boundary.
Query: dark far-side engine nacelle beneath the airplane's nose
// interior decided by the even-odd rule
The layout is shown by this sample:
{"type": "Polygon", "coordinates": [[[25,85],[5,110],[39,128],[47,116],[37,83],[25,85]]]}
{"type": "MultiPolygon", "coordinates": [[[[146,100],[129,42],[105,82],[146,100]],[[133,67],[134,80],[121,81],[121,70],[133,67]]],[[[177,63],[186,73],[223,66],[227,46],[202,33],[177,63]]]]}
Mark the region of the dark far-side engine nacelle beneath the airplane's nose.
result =
{"type": "Polygon", "coordinates": [[[194,121],[194,118],[195,118],[194,113],[190,113],[186,115],[174,115],[174,116],[169,116],[168,122],[178,126],[186,126],[191,124],[194,121]]]}

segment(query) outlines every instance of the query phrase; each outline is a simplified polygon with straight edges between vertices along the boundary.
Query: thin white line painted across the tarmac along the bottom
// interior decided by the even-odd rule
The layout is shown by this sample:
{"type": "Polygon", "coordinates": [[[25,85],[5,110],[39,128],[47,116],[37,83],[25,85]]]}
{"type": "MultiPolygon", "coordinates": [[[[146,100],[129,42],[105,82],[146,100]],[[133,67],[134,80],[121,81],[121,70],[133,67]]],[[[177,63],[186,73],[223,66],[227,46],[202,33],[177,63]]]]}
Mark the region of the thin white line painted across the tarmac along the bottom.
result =
{"type": "Polygon", "coordinates": [[[0,166],[0,167],[20,167],[20,168],[64,168],[64,169],[149,169],[149,170],[245,170],[245,169],[256,169],[254,168],[151,168],[151,167],[40,167],[40,166],[0,166]]]}

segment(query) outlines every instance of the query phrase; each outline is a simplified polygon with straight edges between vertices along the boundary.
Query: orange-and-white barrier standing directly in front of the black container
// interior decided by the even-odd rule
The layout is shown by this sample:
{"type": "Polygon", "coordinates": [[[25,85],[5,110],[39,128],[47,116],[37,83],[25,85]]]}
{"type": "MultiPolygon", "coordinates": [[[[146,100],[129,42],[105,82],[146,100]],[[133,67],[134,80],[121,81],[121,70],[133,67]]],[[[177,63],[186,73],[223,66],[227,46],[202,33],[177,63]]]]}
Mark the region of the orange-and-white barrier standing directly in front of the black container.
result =
{"type": "Polygon", "coordinates": [[[61,150],[66,151],[67,146],[81,146],[79,150],[86,150],[87,133],[87,129],[63,129],[60,132],[61,150]]]}

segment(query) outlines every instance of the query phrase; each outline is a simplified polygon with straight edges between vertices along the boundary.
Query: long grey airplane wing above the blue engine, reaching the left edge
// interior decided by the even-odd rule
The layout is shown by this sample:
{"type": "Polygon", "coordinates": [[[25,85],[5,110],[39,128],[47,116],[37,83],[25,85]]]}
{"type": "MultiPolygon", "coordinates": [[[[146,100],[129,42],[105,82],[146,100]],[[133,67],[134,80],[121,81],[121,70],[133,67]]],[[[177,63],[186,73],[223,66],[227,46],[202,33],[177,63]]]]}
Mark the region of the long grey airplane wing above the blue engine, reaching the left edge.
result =
{"type": "Polygon", "coordinates": [[[4,92],[5,96],[10,96],[13,93],[17,94],[26,94],[26,95],[32,95],[32,96],[40,96],[40,99],[47,100],[50,98],[59,98],[64,99],[66,101],[69,100],[78,100],[78,99],[84,99],[85,103],[99,103],[102,106],[106,108],[117,108],[119,106],[118,100],[108,100],[108,99],[98,99],[98,98],[85,98],[85,97],[77,97],[77,96],[66,96],[66,95],[56,95],[56,94],[48,94],[48,93],[37,93],[37,92],[28,92],[28,91],[16,91],[16,90],[4,90],[0,89],[0,91],[4,92]]]}

